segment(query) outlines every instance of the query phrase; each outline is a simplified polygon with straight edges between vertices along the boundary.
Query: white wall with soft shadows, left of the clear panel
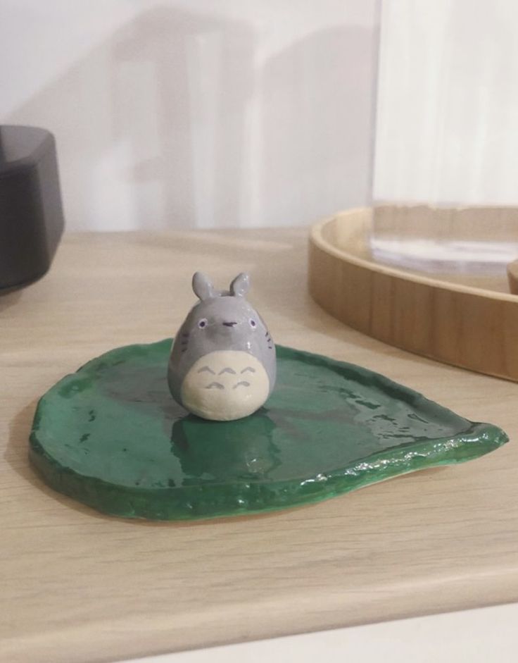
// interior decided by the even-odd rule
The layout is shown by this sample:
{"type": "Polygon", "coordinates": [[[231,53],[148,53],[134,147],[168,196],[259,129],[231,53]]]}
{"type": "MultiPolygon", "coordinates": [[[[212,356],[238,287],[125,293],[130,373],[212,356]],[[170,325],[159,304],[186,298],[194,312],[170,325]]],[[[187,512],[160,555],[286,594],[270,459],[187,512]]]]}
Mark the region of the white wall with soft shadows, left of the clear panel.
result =
{"type": "Polygon", "coordinates": [[[0,0],[0,121],[58,141],[72,230],[364,204],[377,0],[0,0]]]}

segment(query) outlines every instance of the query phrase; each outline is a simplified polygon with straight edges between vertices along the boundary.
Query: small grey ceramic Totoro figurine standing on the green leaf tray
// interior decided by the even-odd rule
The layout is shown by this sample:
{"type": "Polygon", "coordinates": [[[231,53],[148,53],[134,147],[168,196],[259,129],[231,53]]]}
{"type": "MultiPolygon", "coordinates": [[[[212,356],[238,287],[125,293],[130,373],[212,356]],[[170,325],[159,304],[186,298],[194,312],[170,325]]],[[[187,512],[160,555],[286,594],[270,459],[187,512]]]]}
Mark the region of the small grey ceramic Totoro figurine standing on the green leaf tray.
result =
{"type": "Polygon", "coordinates": [[[192,287],[200,301],[172,345],[172,397],[203,419],[241,419],[259,409],[272,392],[274,342],[245,299],[248,274],[239,274],[229,291],[220,292],[206,275],[196,272],[192,287]]]}

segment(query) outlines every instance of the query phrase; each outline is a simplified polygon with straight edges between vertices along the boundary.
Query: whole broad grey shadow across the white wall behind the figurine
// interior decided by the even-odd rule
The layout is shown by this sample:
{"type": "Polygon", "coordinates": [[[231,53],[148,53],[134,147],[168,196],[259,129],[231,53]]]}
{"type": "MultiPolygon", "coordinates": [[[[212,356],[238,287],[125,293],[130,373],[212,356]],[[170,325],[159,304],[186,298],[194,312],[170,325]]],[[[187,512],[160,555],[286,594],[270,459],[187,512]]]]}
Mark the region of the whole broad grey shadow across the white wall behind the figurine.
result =
{"type": "Polygon", "coordinates": [[[369,198],[374,31],[258,64],[242,22],[154,8],[5,119],[56,134],[69,228],[296,225],[369,198]]]}

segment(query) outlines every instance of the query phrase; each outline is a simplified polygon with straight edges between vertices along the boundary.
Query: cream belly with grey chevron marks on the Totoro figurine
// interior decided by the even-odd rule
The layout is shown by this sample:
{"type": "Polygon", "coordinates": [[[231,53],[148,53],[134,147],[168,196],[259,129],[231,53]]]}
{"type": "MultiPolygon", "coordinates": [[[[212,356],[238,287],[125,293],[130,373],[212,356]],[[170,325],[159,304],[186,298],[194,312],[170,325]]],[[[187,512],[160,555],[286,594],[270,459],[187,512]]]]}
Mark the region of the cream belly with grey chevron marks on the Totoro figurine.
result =
{"type": "Polygon", "coordinates": [[[203,419],[231,421],[252,414],[270,392],[263,364],[248,352],[218,350],[192,366],[182,383],[182,403],[203,419]]]}

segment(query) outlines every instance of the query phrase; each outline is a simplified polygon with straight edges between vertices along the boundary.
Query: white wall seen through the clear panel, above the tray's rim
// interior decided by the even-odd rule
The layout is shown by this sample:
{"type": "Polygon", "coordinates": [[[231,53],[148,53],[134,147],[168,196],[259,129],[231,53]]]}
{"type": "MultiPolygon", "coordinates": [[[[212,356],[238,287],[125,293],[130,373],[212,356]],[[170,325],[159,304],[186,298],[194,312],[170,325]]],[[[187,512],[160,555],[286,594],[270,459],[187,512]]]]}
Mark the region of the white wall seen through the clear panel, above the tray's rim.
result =
{"type": "Polygon", "coordinates": [[[518,2],[384,0],[374,197],[518,204],[518,2]]]}

